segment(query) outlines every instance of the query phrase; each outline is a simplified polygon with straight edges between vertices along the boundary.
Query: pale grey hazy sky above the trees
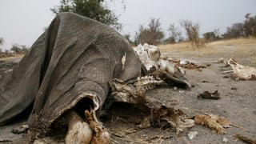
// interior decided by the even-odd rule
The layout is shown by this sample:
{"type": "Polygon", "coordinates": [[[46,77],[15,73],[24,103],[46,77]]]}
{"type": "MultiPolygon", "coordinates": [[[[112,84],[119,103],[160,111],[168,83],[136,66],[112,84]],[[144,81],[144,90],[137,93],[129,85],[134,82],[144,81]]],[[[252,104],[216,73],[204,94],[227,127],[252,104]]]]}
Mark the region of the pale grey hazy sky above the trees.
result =
{"type": "MultiPolygon", "coordinates": [[[[200,24],[200,33],[242,22],[246,13],[256,14],[256,0],[115,0],[109,6],[118,15],[124,27],[122,34],[134,38],[139,25],[147,26],[150,18],[159,18],[162,30],[171,23],[180,26],[181,19],[200,24]],[[126,6],[124,10],[122,7],[126,6]]],[[[0,38],[4,38],[3,49],[12,44],[31,46],[49,26],[54,14],[50,8],[60,0],[0,0],[0,38]]]]}

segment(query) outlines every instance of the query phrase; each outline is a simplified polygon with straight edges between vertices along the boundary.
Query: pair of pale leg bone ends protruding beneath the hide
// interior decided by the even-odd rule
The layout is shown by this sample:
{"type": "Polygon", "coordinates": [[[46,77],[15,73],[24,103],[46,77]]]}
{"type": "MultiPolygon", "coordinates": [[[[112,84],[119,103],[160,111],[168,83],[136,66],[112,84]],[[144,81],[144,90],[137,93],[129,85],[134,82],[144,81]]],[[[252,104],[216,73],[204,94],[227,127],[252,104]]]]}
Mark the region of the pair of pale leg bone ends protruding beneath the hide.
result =
{"type": "Polygon", "coordinates": [[[65,138],[67,144],[110,143],[110,134],[98,121],[95,110],[85,110],[85,122],[74,110],[68,110],[65,116],[69,126],[65,138]]]}

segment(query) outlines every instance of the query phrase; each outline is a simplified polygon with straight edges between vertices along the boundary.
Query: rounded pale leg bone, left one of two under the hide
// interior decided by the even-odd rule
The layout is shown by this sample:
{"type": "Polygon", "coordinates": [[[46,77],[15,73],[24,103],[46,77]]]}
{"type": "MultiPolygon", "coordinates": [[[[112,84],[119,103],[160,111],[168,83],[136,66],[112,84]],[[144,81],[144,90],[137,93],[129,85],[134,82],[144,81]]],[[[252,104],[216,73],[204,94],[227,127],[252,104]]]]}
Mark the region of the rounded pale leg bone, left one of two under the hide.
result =
{"type": "Polygon", "coordinates": [[[90,143],[93,137],[89,123],[84,122],[82,118],[74,111],[68,110],[65,114],[69,129],[66,134],[66,144],[90,143]]]}

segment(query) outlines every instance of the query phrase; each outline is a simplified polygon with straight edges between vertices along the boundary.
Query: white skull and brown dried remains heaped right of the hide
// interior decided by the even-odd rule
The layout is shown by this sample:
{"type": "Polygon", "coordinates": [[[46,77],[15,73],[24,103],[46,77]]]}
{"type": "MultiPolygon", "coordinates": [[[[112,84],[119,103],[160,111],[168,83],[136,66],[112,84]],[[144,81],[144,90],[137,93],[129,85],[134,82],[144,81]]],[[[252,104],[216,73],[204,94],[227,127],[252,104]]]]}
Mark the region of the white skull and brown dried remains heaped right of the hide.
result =
{"type": "Polygon", "coordinates": [[[187,119],[185,122],[181,121],[182,110],[166,106],[165,103],[146,96],[146,90],[152,89],[163,81],[168,83],[172,80],[172,82],[182,83],[190,87],[190,82],[186,79],[185,70],[180,66],[180,63],[171,58],[162,58],[157,46],[138,45],[134,51],[146,67],[148,74],[137,78],[134,83],[126,83],[118,78],[112,79],[109,82],[110,98],[114,102],[126,102],[135,106],[142,105],[150,111],[150,114],[146,115],[138,125],[139,128],[152,126],[154,125],[152,122],[166,121],[176,129],[178,134],[182,129],[193,126],[194,121],[191,119],[187,119]]]}

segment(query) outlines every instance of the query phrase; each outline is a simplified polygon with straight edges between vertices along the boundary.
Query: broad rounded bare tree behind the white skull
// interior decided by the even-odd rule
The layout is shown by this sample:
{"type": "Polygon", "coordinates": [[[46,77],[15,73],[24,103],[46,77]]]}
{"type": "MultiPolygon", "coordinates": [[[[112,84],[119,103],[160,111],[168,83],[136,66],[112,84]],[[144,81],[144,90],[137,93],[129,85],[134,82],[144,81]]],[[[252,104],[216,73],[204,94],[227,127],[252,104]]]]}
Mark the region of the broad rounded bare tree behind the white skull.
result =
{"type": "Polygon", "coordinates": [[[164,37],[164,33],[162,32],[161,23],[159,22],[159,18],[150,18],[150,23],[148,27],[139,26],[138,33],[135,36],[135,43],[148,43],[150,45],[158,45],[162,42],[162,38],[164,37]]]}

